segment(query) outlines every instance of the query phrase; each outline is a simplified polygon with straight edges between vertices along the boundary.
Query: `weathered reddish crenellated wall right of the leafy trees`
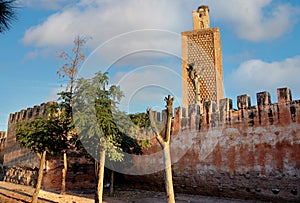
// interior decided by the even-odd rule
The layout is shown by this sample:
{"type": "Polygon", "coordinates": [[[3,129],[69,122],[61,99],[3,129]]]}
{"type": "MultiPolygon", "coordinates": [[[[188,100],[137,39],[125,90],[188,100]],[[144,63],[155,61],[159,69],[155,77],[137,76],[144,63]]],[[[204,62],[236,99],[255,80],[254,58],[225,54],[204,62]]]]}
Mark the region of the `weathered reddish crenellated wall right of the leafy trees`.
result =
{"type": "MultiPolygon", "coordinates": [[[[171,144],[172,160],[179,160],[172,166],[175,192],[300,201],[300,101],[292,100],[288,88],[277,93],[275,104],[268,92],[258,93],[256,106],[249,95],[241,95],[238,110],[231,99],[220,101],[219,112],[214,102],[176,108],[171,144]]],[[[146,154],[159,149],[156,143],[146,154]]],[[[159,159],[151,162],[159,164],[159,159]]],[[[135,188],[164,190],[162,171],[125,180],[135,188]]]]}

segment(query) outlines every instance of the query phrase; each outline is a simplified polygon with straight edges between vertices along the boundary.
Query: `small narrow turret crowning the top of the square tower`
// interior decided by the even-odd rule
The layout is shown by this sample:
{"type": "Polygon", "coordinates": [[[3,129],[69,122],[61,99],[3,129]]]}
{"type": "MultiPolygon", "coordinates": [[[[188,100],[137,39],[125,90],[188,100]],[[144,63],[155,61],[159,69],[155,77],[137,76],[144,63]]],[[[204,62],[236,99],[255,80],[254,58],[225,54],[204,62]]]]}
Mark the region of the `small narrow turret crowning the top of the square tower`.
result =
{"type": "Polygon", "coordinates": [[[209,8],[206,5],[199,6],[193,11],[194,30],[210,28],[209,8]]]}

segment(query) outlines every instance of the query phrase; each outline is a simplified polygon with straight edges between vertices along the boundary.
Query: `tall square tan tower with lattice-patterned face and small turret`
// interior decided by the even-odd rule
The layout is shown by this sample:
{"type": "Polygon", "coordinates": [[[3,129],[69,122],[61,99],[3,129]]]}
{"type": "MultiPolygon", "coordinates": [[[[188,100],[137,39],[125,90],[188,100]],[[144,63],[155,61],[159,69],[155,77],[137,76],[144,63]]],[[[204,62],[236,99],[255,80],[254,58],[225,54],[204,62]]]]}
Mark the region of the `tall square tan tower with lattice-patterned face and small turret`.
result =
{"type": "Polygon", "coordinates": [[[194,30],[182,32],[182,105],[224,98],[219,28],[210,28],[208,6],[193,11],[194,30]]]}

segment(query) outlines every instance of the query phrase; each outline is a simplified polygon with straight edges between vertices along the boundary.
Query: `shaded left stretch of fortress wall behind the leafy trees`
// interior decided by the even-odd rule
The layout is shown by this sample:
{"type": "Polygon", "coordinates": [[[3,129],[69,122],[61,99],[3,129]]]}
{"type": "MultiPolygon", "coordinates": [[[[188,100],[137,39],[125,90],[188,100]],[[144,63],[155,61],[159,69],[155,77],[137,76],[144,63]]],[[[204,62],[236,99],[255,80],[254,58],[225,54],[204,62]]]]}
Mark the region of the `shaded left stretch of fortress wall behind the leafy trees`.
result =
{"type": "MultiPolygon", "coordinates": [[[[7,139],[3,150],[4,166],[7,169],[4,180],[22,185],[35,186],[39,159],[36,154],[20,147],[16,141],[14,126],[23,121],[31,121],[37,116],[47,116],[47,106],[53,102],[36,105],[9,116],[7,139]]],[[[2,135],[0,133],[0,135],[2,135]]],[[[0,137],[1,140],[2,136],[0,137]]],[[[47,156],[43,189],[60,190],[62,156],[47,156]]],[[[78,152],[68,153],[67,189],[81,190],[94,188],[94,164],[78,152]]]]}

